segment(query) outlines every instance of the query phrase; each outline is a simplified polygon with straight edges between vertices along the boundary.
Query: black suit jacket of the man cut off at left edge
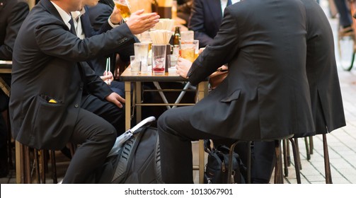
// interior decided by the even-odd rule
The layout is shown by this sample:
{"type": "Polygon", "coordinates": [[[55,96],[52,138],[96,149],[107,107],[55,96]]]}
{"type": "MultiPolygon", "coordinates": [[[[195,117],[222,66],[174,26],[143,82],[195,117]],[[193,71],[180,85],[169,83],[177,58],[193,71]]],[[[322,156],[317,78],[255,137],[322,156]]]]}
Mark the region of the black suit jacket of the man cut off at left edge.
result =
{"type": "Polygon", "coordinates": [[[0,0],[0,59],[11,60],[18,30],[28,15],[24,0],[0,0]]]}

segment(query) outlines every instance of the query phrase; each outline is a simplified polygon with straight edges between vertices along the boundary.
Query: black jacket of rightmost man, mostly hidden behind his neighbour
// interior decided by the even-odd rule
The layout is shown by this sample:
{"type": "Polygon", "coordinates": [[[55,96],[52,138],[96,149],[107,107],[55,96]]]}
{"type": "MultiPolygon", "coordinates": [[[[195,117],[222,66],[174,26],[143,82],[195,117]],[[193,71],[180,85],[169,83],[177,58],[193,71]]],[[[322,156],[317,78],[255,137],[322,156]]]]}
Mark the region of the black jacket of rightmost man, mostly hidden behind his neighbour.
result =
{"type": "Polygon", "coordinates": [[[306,8],[307,18],[306,74],[311,93],[311,107],[316,133],[324,134],[345,126],[333,30],[316,1],[301,1],[306,8]]]}

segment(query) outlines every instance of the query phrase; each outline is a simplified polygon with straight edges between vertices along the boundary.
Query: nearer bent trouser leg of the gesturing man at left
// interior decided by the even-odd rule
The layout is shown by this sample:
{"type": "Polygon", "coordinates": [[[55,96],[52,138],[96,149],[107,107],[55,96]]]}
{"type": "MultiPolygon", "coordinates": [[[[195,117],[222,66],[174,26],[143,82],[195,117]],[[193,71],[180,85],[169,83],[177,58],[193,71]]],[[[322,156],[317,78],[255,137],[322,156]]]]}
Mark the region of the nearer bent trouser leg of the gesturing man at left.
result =
{"type": "Polygon", "coordinates": [[[80,144],[63,183],[85,183],[103,165],[115,143],[116,130],[98,115],[81,109],[70,142],[80,144]]]}

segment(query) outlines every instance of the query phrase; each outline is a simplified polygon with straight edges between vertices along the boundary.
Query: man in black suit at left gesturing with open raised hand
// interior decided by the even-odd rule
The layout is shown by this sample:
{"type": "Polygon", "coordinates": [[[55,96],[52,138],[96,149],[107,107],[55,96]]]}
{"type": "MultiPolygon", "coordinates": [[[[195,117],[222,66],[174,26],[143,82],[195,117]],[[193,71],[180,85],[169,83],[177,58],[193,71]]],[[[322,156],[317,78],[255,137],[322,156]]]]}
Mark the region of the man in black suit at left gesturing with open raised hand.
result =
{"type": "MultiPolygon", "coordinates": [[[[81,107],[83,90],[116,105],[124,117],[125,100],[86,64],[86,59],[113,52],[134,42],[159,21],[155,13],[132,13],[105,34],[84,40],[75,35],[71,11],[81,0],[41,0],[23,22],[13,50],[10,117],[13,137],[33,148],[61,149],[80,144],[63,183],[84,183],[101,167],[112,148],[116,130],[103,119],[103,109],[81,107]]],[[[105,117],[104,117],[105,118],[105,117]]]]}

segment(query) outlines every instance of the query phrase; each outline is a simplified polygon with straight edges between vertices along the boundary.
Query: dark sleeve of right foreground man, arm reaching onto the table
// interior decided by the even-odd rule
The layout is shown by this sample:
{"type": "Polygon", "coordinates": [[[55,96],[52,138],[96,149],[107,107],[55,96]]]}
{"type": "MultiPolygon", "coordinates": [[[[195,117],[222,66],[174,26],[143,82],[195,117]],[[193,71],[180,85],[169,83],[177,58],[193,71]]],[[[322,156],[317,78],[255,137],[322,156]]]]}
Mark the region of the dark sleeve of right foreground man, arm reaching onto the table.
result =
{"type": "MultiPolygon", "coordinates": [[[[188,81],[197,85],[207,76],[222,66],[229,63],[237,56],[239,51],[239,31],[237,19],[229,8],[225,9],[224,19],[219,33],[214,38],[212,45],[208,45],[199,57],[193,62],[188,71],[188,81]]],[[[229,64],[229,66],[231,66],[229,64]]]]}

